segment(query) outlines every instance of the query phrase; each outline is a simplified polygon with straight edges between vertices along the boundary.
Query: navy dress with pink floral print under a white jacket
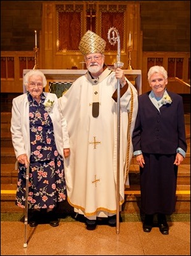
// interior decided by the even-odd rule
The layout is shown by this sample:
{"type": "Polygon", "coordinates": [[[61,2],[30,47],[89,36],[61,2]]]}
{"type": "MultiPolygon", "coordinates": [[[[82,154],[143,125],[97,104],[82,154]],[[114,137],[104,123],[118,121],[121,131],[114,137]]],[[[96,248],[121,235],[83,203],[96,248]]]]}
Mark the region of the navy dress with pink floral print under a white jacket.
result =
{"type": "MultiPolygon", "coordinates": [[[[64,159],[57,152],[52,120],[43,105],[45,98],[42,93],[38,104],[28,92],[31,138],[29,209],[55,208],[58,202],[66,200],[64,159]]],[[[19,164],[15,204],[21,208],[25,207],[25,171],[24,164],[19,164]]]]}

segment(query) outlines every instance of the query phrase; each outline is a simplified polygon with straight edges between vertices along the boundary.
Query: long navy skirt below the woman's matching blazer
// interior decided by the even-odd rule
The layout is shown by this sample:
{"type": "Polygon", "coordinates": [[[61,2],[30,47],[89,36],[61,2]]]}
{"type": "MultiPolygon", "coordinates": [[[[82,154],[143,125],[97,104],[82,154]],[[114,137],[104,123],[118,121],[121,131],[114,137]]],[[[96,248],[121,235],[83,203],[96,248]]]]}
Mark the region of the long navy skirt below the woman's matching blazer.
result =
{"type": "Polygon", "coordinates": [[[140,167],[141,210],[145,214],[171,215],[176,205],[176,154],[143,153],[143,157],[145,166],[140,167]]]}

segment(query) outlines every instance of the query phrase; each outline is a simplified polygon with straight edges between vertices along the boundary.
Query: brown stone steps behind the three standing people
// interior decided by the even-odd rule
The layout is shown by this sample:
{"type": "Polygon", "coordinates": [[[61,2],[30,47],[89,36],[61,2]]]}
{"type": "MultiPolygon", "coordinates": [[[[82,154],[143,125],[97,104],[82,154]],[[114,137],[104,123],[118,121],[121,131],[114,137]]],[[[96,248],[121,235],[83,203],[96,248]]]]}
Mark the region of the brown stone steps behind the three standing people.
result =
{"type": "MultiPolygon", "coordinates": [[[[15,205],[17,189],[17,170],[15,170],[15,152],[11,142],[11,113],[1,113],[1,213],[24,213],[15,205]]],[[[190,114],[185,115],[188,151],[178,168],[176,190],[176,213],[190,213],[190,114]]],[[[139,213],[140,187],[139,166],[133,157],[129,170],[130,187],[125,188],[124,213],[139,213]]]]}

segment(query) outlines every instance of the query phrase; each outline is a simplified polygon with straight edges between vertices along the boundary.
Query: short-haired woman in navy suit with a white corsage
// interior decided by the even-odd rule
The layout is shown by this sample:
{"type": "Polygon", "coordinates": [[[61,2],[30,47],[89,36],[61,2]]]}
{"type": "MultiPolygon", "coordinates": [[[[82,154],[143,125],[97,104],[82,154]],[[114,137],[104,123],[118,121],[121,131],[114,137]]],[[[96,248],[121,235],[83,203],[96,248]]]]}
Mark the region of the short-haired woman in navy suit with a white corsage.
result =
{"type": "Polygon", "coordinates": [[[169,234],[166,215],[175,211],[178,166],[187,152],[182,97],[166,89],[167,71],[148,71],[152,90],[138,97],[138,115],[132,134],[134,156],[140,167],[143,231],[150,232],[157,214],[162,234],[169,234]]]}

